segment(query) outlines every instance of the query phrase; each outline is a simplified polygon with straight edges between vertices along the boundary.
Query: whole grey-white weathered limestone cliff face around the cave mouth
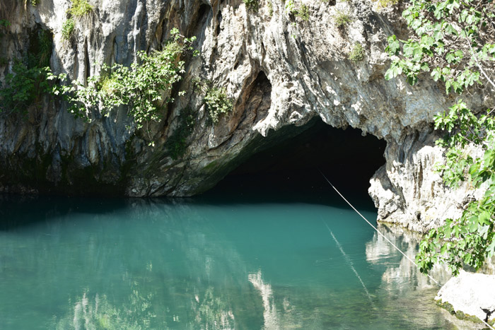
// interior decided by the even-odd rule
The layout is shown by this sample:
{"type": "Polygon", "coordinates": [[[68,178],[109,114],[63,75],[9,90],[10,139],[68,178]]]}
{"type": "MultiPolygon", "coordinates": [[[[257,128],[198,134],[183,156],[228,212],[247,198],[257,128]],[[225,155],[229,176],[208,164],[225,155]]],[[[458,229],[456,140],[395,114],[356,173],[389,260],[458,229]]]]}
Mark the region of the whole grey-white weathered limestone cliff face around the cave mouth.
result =
{"type": "MultiPolygon", "coordinates": [[[[126,109],[110,117],[93,113],[88,123],[50,98],[25,117],[4,114],[0,191],[190,196],[285,139],[287,127],[304,127],[320,117],[387,141],[386,164],[370,188],[379,220],[424,230],[458,212],[465,201],[469,187],[449,191],[432,171],[442,160],[433,143],[433,114],[452,100],[433,81],[411,87],[400,78],[383,78],[386,38],[406,33],[401,8],[378,11],[372,1],[357,0],[295,1],[297,8],[308,6],[309,18],[303,20],[282,1],[260,1],[253,11],[240,0],[91,0],[93,11],[76,20],[74,38],[67,41],[62,25],[69,1],[21,2],[0,3],[0,19],[11,22],[1,39],[8,58],[0,64],[2,76],[11,71],[14,58],[25,55],[29,35],[38,30],[52,33],[52,70],[81,82],[98,74],[101,64],[129,65],[139,50],[160,49],[172,28],[196,36],[200,56],[187,59],[177,86],[185,95],[175,98],[161,122],[141,131],[132,129],[126,109]],[[349,15],[351,23],[337,26],[339,13],[349,15]],[[349,53],[356,43],[365,54],[354,62],[349,53]],[[194,89],[197,79],[226,88],[233,99],[233,111],[218,124],[207,118],[204,93],[194,89]],[[173,159],[167,141],[180,129],[185,109],[194,114],[194,129],[185,153],[173,159]],[[149,141],[155,145],[148,146],[149,141]]],[[[470,102],[483,107],[489,101],[478,94],[470,102]]]]}

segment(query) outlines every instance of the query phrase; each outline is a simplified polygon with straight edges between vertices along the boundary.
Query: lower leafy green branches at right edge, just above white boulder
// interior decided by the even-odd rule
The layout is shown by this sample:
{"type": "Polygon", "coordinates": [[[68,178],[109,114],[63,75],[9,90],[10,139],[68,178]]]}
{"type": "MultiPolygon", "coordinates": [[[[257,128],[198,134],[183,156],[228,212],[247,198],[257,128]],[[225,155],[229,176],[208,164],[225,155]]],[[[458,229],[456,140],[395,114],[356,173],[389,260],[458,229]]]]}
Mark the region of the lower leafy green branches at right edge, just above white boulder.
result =
{"type": "Polygon", "coordinates": [[[475,116],[460,100],[445,114],[435,117],[436,129],[448,133],[438,144],[448,147],[445,165],[439,165],[443,180],[449,187],[469,179],[479,188],[489,187],[482,199],[467,204],[458,219],[447,219],[445,225],[431,230],[420,244],[417,257],[421,271],[429,271],[438,261],[450,266],[457,274],[462,264],[479,269],[495,250],[495,119],[490,112],[475,116]],[[472,158],[462,152],[468,143],[484,149],[482,158],[472,158]]]}

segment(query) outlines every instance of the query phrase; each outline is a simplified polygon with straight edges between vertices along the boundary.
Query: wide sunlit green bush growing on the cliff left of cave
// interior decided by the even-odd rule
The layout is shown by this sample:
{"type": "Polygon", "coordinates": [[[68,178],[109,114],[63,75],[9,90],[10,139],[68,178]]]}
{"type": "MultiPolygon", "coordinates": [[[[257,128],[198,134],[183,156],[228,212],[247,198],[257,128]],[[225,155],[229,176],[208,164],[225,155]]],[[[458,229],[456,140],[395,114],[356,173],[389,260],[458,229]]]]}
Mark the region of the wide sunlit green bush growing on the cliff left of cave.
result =
{"type": "MultiPolygon", "coordinates": [[[[182,38],[177,29],[170,34],[172,38],[163,50],[151,54],[138,52],[138,61],[130,67],[103,65],[105,76],[89,77],[86,86],[78,82],[55,86],[53,93],[64,95],[71,104],[69,111],[77,117],[88,118],[95,110],[108,116],[113,108],[128,105],[128,115],[133,117],[137,129],[145,122],[158,121],[163,106],[173,102],[173,98],[165,95],[170,94],[173,84],[184,73],[185,62],[180,57],[192,50],[195,39],[182,38]]],[[[49,74],[49,79],[65,81],[66,76],[49,74]]]]}

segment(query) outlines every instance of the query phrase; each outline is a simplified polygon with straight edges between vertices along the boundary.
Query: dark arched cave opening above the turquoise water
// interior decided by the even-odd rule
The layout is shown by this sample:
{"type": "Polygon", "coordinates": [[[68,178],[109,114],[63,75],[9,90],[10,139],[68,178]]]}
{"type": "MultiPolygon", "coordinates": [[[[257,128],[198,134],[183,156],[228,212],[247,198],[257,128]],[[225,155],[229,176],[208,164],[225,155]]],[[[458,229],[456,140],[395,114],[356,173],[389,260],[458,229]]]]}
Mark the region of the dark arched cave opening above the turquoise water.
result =
{"type": "MultiPolygon", "coordinates": [[[[372,206],[369,179],[385,164],[386,143],[359,129],[336,129],[319,118],[302,132],[252,155],[208,194],[260,201],[337,203],[328,179],[351,202],[372,206]]],[[[337,196],[337,197],[336,197],[337,196]]]]}

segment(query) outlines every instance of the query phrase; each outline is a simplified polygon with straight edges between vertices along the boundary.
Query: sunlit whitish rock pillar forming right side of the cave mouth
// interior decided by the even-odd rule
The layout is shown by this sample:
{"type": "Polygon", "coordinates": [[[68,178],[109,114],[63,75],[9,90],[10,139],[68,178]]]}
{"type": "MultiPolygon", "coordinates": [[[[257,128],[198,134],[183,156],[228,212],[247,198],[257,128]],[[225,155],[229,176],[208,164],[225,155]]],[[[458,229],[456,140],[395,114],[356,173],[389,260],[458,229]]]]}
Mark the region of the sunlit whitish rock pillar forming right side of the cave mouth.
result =
{"type": "MultiPolygon", "coordinates": [[[[399,142],[389,141],[388,160],[371,178],[368,189],[378,208],[378,220],[397,223],[410,230],[426,232],[445,218],[458,218],[467,204],[480,199],[482,189],[464,182],[449,189],[436,172],[443,163],[443,148],[435,141],[441,136],[431,129],[405,135],[399,142]]],[[[470,154],[480,151],[467,148],[470,154]]]]}

